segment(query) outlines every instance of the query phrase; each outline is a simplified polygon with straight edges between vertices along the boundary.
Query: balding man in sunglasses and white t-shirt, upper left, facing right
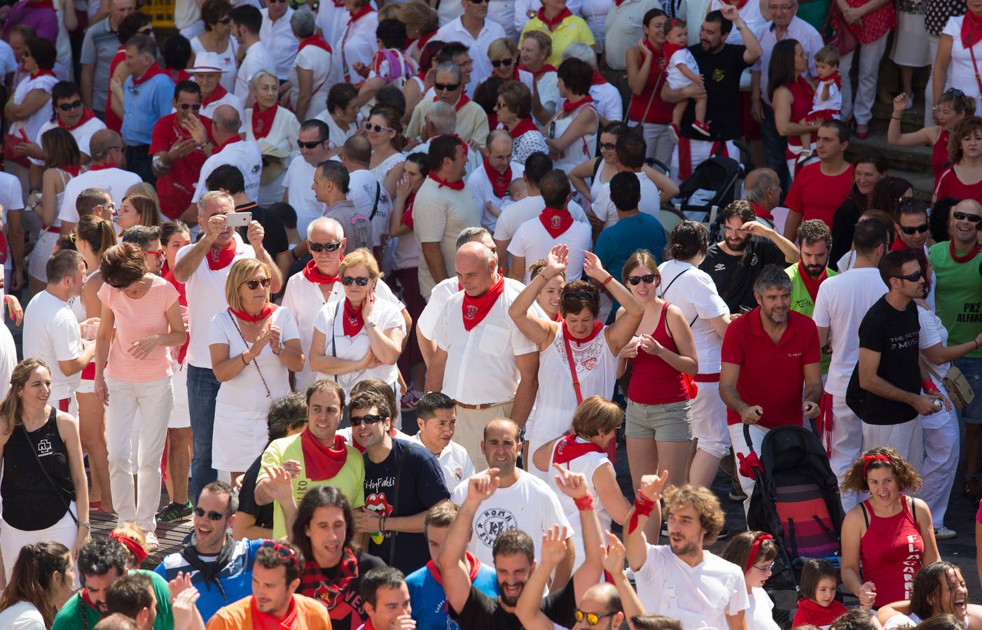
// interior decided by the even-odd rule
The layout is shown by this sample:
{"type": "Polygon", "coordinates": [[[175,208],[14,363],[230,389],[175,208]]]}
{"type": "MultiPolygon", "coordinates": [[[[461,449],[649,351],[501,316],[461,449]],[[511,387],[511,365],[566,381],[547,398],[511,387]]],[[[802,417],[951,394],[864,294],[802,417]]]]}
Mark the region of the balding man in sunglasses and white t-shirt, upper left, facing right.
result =
{"type": "Polygon", "coordinates": [[[127,189],[140,182],[136,173],[123,170],[126,167],[126,153],[119,133],[112,130],[96,131],[92,134],[88,147],[92,151],[92,164],[88,171],[65,184],[62,205],[58,211],[63,235],[71,233],[79,223],[75,200],[82,190],[102,188],[109,193],[118,208],[123,203],[123,195],[127,189]]]}

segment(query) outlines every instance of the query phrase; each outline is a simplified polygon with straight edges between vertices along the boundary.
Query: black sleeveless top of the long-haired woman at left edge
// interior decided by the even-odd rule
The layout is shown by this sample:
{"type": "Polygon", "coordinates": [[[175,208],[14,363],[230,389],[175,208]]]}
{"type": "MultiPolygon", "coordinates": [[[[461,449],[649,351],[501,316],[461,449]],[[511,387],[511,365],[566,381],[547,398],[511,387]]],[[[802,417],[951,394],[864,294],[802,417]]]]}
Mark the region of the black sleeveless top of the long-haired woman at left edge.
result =
{"type": "Polygon", "coordinates": [[[3,519],[19,530],[51,527],[75,500],[68,448],[58,433],[57,415],[57,408],[52,406],[44,426],[29,434],[23,424],[16,425],[3,449],[3,519]]]}

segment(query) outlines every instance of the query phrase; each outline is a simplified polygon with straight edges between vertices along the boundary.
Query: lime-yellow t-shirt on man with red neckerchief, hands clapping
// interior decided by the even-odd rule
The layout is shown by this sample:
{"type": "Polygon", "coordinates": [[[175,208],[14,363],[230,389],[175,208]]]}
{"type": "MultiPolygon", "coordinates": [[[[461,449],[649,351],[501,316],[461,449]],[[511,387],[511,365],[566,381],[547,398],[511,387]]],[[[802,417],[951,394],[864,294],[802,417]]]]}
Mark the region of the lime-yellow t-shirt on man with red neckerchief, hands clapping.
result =
{"type": "MultiPolygon", "coordinates": [[[[294,499],[297,500],[298,505],[300,505],[300,499],[303,499],[307,491],[318,486],[334,486],[345,493],[345,497],[352,504],[352,508],[364,505],[365,464],[357,448],[351,445],[346,446],[348,448],[348,460],[345,462],[344,467],[338,471],[337,475],[330,479],[313,481],[308,479],[305,474],[306,467],[303,462],[303,446],[300,444],[301,435],[303,435],[302,432],[289,438],[280,438],[279,440],[274,440],[269,446],[266,446],[266,450],[262,453],[262,465],[282,466],[283,462],[291,459],[300,462],[300,475],[293,480],[294,499]]],[[[265,478],[266,471],[260,468],[259,474],[256,477],[256,484],[265,478]]],[[[283,508],[277,504],[276,510],[273,512],[273,538],[283,538],[286,535],[287,527],[283,517],[283,508]]]]}

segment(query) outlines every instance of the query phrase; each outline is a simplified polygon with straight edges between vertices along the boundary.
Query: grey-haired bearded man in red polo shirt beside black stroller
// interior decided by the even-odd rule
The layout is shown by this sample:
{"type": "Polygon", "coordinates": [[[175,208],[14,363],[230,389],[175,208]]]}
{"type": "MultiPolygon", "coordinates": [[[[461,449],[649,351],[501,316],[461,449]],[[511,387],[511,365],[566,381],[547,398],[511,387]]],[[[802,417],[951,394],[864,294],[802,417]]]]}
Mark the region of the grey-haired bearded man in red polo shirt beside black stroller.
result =
{"type": "MultiPolygon", "coordinates": [[[[720,353],[720,397],[738,461],[749,453],[743,425],[749,425],[754,452],[771,429],[800,427],[802,416],[818,415],[822,364],[818,329],[810,317],[791,310],[791,278],[768,265],[753,285],[757,308],[731,322],[720,353]],[[802,395],[803,392],[803,395],[802,395]]],[[[749,507],[754,480],[738,475],[749,507]]]]}

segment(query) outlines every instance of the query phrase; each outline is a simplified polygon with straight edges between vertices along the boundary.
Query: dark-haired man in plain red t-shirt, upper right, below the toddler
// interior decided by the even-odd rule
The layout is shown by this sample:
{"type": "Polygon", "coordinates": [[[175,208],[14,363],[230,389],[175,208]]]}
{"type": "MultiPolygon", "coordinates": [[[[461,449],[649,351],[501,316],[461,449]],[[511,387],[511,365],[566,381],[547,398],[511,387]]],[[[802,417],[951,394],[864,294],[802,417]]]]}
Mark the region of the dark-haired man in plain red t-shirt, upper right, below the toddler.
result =
{"type": "Polygon", "coordinates": [[[818,128],[815,154],[820,162],[809,164],[794,176],[785,205],[788,220],[785,237],[794,242],[802,221],[821,219],[832,229],[832,218],[846,200],[852,185],[852,165],[846,162],[849,128],[842,121],[825,121],[818,128]]]}

